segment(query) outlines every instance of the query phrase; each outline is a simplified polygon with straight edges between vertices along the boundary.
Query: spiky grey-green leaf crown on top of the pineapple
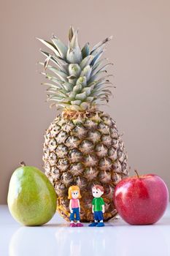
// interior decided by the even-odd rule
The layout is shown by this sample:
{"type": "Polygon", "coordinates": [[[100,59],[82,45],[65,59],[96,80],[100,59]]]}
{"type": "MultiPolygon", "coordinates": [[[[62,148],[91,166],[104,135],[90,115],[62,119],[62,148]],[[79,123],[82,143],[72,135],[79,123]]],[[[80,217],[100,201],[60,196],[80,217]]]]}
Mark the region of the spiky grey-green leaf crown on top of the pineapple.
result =
{"type": "Polygon", "coordinates": [[[109,96],[112,95],[109,77],[112,75],[105,73],[112,63],[104,64],[107,59],[101,59],[101,56],[110,39],[112,37],[98,42],[92,50],[87,42],[81,49],[78,31],[74,31],[72,26],[69,29],[68,46],[55,35],[51,37],[52,42],[39,39],[51,50],[51,53],[40,50],[46,59],[44,63],[39,62],[44,67],[41,74],[50,80],[50,83],[42,83],[48,86],[47,101],[53,101],[50,106],[85,111],[95,108],[103,101],[109,102],[109,96]]]}

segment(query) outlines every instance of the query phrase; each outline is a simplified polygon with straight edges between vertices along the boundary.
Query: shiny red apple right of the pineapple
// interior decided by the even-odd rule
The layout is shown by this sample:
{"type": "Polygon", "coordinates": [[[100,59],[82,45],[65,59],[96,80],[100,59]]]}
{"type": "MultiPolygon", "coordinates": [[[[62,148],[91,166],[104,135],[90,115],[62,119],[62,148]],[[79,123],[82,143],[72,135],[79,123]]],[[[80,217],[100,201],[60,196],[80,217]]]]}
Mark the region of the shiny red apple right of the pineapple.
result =
{"type": "Polygon", "coordinates": [[[115,208],[120,217],[131,225],[158,222],[169,203],[166,184],[155,174],[136,174],[123,179],[115,187],[115,208]]]}

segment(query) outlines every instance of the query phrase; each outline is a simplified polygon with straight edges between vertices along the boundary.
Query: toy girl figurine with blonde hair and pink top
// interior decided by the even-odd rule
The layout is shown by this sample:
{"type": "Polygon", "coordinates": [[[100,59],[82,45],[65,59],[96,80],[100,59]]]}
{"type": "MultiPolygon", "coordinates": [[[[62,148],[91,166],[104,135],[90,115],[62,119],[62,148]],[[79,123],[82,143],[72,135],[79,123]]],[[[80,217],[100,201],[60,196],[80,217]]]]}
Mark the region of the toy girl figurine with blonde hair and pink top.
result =
{"type": "Polygon", "coordinates": [[[69,209],[70,209],[70,227],[83,227],[80,223],[80,188],[78,186],[69,187],[69,209]],[[77,224],[74,221],[77,221],[77,224]]]}

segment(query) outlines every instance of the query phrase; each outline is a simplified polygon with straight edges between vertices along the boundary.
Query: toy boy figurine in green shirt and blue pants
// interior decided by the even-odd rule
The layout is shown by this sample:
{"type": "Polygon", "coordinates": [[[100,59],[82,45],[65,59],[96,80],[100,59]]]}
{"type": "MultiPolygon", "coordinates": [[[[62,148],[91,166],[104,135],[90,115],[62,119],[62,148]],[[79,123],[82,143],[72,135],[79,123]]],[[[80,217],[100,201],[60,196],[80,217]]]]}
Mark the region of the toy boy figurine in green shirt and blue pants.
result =
{"type": "Polygon", "coordinates": [[[104,227],[104,200],[101,195],[104,194],[104,188],[100,185],[95,185],[92,188],[93,200],[92,200],[92,212],[94,214],[94,222],[89,227],[104,227]]]}

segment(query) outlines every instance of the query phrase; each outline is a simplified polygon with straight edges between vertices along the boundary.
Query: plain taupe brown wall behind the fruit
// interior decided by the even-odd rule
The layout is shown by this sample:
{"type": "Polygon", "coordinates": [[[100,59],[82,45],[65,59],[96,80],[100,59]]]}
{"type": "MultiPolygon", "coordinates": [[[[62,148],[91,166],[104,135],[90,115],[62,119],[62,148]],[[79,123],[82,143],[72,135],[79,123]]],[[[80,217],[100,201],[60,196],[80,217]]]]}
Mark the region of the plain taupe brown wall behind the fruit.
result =
{"type": "Polygon", "coordinates": [[[42,168],[43,133],[56,116],[40,85],[35,37],[55,33],[67,42],[70,24],[80,29],[81,45],[113,35],[105,56],[115,64],[117,89],[103,109],[124,132],[132,169],[157,173],[170,188],[170,1],[8,0],[0,12],[0,203],[20,160],[42,168]]]}

